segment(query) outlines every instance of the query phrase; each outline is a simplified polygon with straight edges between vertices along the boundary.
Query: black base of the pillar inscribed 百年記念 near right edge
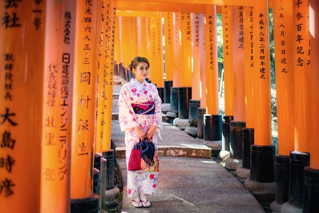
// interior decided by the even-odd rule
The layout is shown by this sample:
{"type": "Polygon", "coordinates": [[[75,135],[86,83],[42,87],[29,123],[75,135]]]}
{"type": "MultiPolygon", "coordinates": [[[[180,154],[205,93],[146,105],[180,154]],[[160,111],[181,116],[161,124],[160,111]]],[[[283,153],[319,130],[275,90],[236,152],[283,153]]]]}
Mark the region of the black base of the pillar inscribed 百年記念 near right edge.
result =
{"type": "Polygon", "coordinates": [[[309,153],[290,152],[289,204],[296,208],[303,208],[304,168],[309,163],[309,153]]]}

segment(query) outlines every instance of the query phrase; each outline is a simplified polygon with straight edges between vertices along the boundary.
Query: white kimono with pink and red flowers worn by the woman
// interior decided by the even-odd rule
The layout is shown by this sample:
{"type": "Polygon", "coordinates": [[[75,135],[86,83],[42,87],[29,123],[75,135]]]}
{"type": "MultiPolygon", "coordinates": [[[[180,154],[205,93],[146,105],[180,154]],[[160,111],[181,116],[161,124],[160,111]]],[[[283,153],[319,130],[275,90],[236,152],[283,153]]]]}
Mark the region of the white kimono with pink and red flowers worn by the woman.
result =
{"type": "MultiPolygon", "coordinates": [[[[141,84],[135,78],[123,85],[119,96],[119,122],[121,131],[125,131],[126,146],[126,168],[128,168],[129,156],[135,144],[140,142],[135,126],[140,126],[145,132],[152,126],[157,126],[156,134],[151,140],[155,147],[155,154],[158,154],[157,138],[161,138],[162,130],[162,100],[158,95],[154,84],[145,80],[141,84]],[[132,103],[154,102],[154,114],[136,114],[132,103]]],[[[161,138],[162,139],[162,138],[161,138]]],[[[148,171],[128,171],[127,170],[127,195],[134,197],[138,192],[155,195],[157,185],[157,173],[148,171]]]]}

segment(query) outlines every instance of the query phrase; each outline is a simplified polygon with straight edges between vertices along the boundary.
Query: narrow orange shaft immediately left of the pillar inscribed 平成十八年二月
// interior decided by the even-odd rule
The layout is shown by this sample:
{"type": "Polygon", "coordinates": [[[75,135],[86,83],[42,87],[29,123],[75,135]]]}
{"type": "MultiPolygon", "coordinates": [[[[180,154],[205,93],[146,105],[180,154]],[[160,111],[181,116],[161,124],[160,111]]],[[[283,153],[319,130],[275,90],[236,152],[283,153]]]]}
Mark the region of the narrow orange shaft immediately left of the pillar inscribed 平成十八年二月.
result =
{"type": "Polygon", "coordinates": [[[246,127],[254,128],[254,99],[253,99],[253,9],[244,8],[244,40],[245,40],[245,104],[246,127]]]}

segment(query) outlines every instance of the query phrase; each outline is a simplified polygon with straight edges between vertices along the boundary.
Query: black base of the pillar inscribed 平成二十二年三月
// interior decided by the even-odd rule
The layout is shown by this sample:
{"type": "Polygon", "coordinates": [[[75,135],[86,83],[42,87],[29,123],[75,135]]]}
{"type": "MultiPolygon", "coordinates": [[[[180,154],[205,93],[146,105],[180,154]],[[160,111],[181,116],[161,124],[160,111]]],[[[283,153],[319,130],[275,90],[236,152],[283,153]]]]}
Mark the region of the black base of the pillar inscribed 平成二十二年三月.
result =
{"type": "Polygon", "coordinates": [[[204,115],[204,140],[221,141],[222,140],[222,115],[204,115]]]}

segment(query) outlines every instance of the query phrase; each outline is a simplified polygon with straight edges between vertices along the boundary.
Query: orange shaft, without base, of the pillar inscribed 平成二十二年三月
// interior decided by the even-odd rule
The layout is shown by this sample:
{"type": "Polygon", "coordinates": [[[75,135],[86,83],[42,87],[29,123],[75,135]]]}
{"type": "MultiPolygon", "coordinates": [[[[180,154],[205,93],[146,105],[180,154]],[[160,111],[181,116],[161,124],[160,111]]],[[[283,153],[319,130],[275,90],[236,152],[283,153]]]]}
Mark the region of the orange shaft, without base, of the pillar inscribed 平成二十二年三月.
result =
{"type": "Polygon", "coordinates": [[[218,61],[216,6],[209,5],[205,13],[205,51],[206,51],[206,113],[219,114],[218,61]]]}

